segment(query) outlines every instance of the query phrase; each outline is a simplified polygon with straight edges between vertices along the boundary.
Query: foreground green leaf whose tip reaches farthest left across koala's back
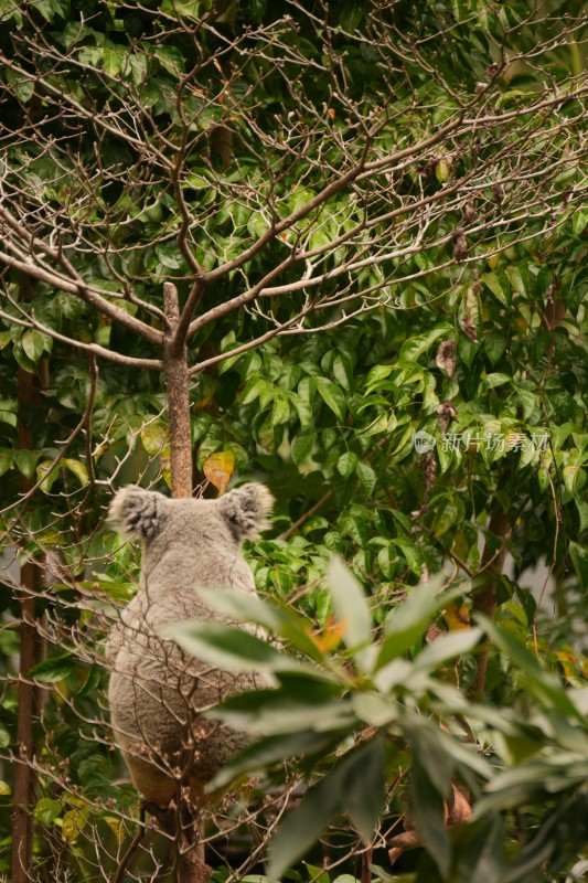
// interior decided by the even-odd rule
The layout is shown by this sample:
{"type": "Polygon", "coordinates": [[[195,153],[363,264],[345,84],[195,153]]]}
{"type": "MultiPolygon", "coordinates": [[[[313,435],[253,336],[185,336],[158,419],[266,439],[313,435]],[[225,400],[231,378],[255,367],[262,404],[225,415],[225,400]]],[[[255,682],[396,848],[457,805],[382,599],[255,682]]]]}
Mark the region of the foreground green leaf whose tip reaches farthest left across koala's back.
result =
{"type": "Polygon", "coordinates": [[[299,671],[303,666],[248,631],[218,623],[189,620],[162,626],[171,638],[197,659],[229,671],[299,671]]]}

